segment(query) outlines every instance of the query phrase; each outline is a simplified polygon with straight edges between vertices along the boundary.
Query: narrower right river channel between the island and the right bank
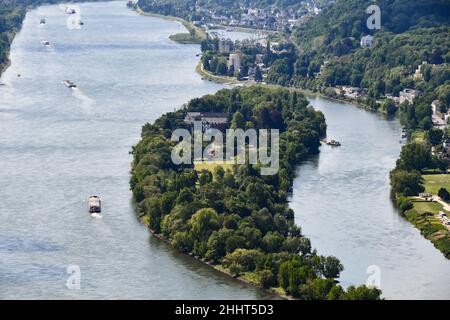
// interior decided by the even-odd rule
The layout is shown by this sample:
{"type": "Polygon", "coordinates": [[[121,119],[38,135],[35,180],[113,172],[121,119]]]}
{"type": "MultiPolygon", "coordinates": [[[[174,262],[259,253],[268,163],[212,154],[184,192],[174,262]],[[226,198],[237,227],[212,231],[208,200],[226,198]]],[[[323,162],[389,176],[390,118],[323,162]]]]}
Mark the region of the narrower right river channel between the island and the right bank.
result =
{"type": "Polygon", "coordinates": [[[450,261],[390,200],[398,120],[321,98],[310,102],[342,147],[323,146],[299,166],[291,207],[303,233],[320,254],[341,260],[345,286],[375,276],[387,299],[450,299],[450,261]]]}

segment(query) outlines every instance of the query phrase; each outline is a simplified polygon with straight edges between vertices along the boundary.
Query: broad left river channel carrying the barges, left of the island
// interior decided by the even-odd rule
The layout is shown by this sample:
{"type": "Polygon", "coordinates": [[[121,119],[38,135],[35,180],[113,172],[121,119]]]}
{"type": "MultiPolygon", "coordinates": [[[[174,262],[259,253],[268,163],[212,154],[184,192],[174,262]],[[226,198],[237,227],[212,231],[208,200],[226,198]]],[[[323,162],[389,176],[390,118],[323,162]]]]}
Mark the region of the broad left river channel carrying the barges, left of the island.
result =
{"type": "Polygon", "coordinates": [[[80,30],[64,6],[30,11],[1,78],[0,298],[270,298],[150,237],[131,205],[142,125],[224,87],[196,74],[199,46],[173,43],[178,23],[125,2],[78,6],[80,30]],[[102,220],[87,214],[92,194],[102,220]],[[80,290],[66,287],[69,266],[80,290]]]}

